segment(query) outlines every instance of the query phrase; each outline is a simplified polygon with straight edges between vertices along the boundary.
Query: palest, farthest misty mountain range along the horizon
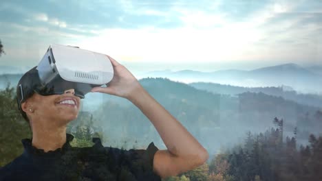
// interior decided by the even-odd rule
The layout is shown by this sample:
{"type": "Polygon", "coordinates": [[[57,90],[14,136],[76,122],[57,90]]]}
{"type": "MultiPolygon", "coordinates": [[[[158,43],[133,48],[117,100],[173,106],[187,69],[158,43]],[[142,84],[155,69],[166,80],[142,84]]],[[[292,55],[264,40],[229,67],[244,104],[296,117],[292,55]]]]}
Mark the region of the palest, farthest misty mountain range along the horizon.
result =
{"type": "Polygon", "coordinates": [[[212,82],[230,84],[233,86],[291,86],[303,93],[321,93],[321,74],[305,69],[297,64],[281,64],[273,67],[264,67],[253,71],[224,70],[214,72],[200,71],[152,71],[144,73],[145,77],[167,77],[170,80],[191,82],[212,82]]]}

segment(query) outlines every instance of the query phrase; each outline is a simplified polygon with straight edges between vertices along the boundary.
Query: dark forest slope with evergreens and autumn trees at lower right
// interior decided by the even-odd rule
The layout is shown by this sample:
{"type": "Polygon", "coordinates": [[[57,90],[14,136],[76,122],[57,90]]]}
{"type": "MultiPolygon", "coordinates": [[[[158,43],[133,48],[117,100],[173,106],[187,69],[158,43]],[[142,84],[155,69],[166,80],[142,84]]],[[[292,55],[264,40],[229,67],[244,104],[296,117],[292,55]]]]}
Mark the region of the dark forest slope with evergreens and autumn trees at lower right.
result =
{"type": "Polygon", "coordinates": [[[313,134],[309,145],[294,136],[282,138],[283,120],[264,133],[247,133],[244,143],[217,154],[207,164],[167,180],[322,180],[322,137],[313,134]]]}

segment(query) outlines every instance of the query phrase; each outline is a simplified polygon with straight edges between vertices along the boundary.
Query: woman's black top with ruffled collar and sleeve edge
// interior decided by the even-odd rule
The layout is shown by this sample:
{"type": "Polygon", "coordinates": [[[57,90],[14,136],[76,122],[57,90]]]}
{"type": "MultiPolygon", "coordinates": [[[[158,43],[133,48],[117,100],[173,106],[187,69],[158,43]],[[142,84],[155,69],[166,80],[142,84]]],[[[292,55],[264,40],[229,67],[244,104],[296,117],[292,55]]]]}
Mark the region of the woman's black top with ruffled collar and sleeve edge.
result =
{"type": "Polygon", "coordinates": [[[93,138],[92,147],[72,147],[74,136],[66,135],[62,148],[44,152],[23,139],[25,150],[0,169],[0,180],[161,180],[153,173],[153,156],[158,148],[123,150],[103,147],[93,138]]]}

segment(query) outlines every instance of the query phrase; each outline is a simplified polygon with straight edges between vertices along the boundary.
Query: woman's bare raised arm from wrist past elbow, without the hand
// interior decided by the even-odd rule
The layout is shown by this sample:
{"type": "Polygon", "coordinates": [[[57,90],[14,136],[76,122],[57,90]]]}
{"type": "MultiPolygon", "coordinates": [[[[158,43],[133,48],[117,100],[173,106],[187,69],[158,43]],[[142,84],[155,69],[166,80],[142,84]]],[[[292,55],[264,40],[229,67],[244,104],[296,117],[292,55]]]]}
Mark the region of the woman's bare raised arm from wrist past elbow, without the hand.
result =
{"type": "Polygon", "coordinates": [[[159,176],[176,176],[208,159],[206,149],[144,88],[139,87],[129,100],[149,118],[167,146],[166,150],[159,150],[154,156],[153,169],[159,176]]]}

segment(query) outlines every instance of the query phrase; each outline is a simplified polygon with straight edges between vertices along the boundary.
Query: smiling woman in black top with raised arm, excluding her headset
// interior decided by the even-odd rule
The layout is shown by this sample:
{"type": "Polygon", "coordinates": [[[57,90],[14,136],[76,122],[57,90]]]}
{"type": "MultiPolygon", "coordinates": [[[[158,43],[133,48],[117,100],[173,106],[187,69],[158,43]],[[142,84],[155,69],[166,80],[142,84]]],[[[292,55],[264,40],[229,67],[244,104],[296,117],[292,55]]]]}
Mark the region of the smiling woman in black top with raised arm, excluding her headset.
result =
{"type": "MultiPolygon", "coordinates": [[[[66,134],[67,123],[76,119],[81,104],[75,90],[45,96],[32,90],[25,97],[17,91],[17,97],[23,100],[19,102],[21,113],[32,128],[32,140],[23,140],[25,152],[0,170],[0,180],[160,180],[194,169],[207,160],[206,149],[181,123],[122,64],[109,59],[114,67],[113,79],[107,87],[95,87],[92,92],[129,99],[155,126],[167,149],[158,150],[151,143],[147,150],[122,151],[102,147],[98,140],[92,148],[70,147],[72,135],[66,134]]],[[[36,84],[34,77],[25,77],[21,80],[31,80],[28,86],[36,84]]]]}

